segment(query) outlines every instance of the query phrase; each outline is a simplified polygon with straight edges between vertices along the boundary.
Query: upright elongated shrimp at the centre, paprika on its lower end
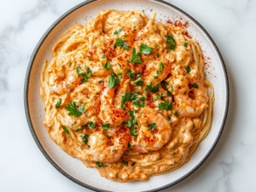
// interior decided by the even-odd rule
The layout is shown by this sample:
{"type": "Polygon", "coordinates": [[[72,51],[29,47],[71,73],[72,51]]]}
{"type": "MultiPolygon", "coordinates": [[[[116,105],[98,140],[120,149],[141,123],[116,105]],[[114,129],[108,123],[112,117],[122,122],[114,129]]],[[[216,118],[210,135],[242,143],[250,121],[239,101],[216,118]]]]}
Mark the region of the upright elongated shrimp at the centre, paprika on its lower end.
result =
{"type": "Polygon", "coordinates": [[[119,126],[123,121],[126,121],[129,116],[127,113],[121,109],[116,108],[113,105],[114,100],[114,88],[108,87],[108,78],[106,78],[101,95],[101,111],[100,118],[104,123],[109,123],[112,126],[119,126]]]}

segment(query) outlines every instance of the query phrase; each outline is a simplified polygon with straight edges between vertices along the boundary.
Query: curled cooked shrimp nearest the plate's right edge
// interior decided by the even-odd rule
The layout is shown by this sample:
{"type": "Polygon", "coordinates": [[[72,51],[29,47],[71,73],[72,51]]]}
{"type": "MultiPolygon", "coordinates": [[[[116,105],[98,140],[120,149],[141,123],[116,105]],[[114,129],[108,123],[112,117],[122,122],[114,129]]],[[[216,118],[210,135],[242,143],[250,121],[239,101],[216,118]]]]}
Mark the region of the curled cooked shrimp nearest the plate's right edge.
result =
{"type": "Polygon", "coordinates": [[[183,114],[183,116],[200,116],[201,112],[208,106],[207,91],[204,88],[202,82],[199,80],[189,83],[191,85],[195,83],[198,86],[198,88],[192,89],[192,93],[194,94],[195,99],[189,97],[189,92],[175,95],[174,99],[177,104],[177,110],[183,114]]]}

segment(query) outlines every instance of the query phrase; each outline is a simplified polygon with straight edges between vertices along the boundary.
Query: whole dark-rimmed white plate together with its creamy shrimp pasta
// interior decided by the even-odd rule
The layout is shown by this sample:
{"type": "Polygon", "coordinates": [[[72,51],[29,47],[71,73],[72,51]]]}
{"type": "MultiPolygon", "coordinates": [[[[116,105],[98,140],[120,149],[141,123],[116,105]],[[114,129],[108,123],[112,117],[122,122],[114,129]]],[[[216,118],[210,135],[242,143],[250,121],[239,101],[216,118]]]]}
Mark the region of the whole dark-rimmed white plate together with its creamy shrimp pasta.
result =
{"type": "Polygon", "coordinates": [[[38,42],[24,93],[39,150],[96,191],[158,191],[188,177],[217,144],[229,105],[212,38],[158,0],[71,8],[38,42]]]}

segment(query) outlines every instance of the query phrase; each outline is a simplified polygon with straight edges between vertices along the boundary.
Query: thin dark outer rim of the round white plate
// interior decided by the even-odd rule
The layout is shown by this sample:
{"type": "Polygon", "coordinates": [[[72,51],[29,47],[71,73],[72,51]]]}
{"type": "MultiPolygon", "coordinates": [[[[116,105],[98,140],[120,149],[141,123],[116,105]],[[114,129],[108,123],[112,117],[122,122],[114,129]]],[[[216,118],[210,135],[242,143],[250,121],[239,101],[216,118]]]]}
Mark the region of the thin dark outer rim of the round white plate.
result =
{"type": "MultiPolygon", "coordinates": [[[[26,76],[25,76],[25,82],[24,82],[24,95],[23,96],[24,96],[24,108],[25,108],[25,114],[26,114],[26,121],[27,121],[28,127],[30,129],[30,132],[32,133],[32,138],[34,139],[35,143],[38,145],[38,149],[42,152],[42,154],[49,161],[49,163],[53,167],[55,167],[55,169],[58,172],[61,172],[61,174],[63,176],[70,179],[75,184],[79,184],[80,186],[82,186],[84,188],[99,191],[99,192],[110,192],[109,190],[98,189],[98,188],[93,187],[89,184],[84,184],[83,182],[79,181],[78,179],[73,178],[73,176],[71,176],[70,174],[68,174],[64,170],[62,170],[61,167],[59,167],[57,165],[57,163],[55,163],[55,161],[53,161],[50,158],[50,156],[44,150],[43,145],[40,143],[40,141],[38,139],[38,136],[37,136],[37,134],[36,134],[36,132],[35,132],[33,126],[32,126],[32,119],[31,119],[31,116],[30,116],[29,105],[28,105],[28,103],[29,103],[28,102],[28,89],[29,89],[29,80],[30,80],[30,76],[31,76],[32,65],[34,63],[34,60],[35,60],[37,54],[38,54],[39,49],[41,48],[42,44],[44,43],[44,40],[49,36],[49,33],[54,30],[55,26],[58,25],[61,22],[61,20],[65,19],[69,14],[72,14],[77,9],[79,9],[79,8],[89,4],[89,3],[93,3],[93,2],[97,2],[97,1],[101,1],[101,0],[88,0],[88,1],[85,1],[85,2],[82,2],[82,3],[79,3],[78,5],[74,6],[73,8],[70,8],[69,10],[67,10],[66,13],[62,14],[57,20],[55,20],[55,22],[52,25],[49,26],[47,31],[44,32],[44,35],[40,38],[39,42],[37,43],[36,47],[34,48],[34,50],[32,52],[32,56],[29,60],[27,68],[26,68],[26,76]]],[[[199,161],[195,165],[195,167],[193,167],[189,172],[184,174],[183,177],[178,178],[177,180],[175,180],[172,184],[165,184],[165,185],[163,185],[161,187],[158,187],[158,188],[155,188],[155,189],[145,190],[144,192],[154,192],[154,191],[167,189],[167,188],[169,188],[169,187],[171,187],[175,184],[178,184],[183,179],[188,178],[189,175],[191,175],[193,172],[195,172],[195,170],[197,170],[199,167],[201,167],[202,163],[207,160],[209,155],[211,155],[212,150],[214,150],[215,146],[218,144],[218,140],[219,140],[219,138],[220,138],[220,136],[221,136],[221,134],[223,133],[223,130],[224,130],[224,125],[225,125],[225,122],[226,122],[226,119],[227,119],[229,105],[230,105],[230,85],[229,85],[230,83],[229,83],[228,73],[227,73],[226,67],[224,65],[224,59],[223,59],[222,55],[220,54],[216,43],[213,41],[213,39],[209,35],[209,33],[205,30],[205,28],[197,20],[195,20],[192,16],[190,16],[189,14],[184,12],[182,9],[177,8],[176,6],[174,6],[172,3],[167,3],[167,2],[164,2],[162,0],[150,0],[150,1],[163,3],[163,4],[166,4],[167,6],[169,6],[171,8],[176,9],[178,12],[187,16],[190,20],[193,20],[195,25],[197,25],[203,31],[203,33],[207,36],[207,38],[212,43],[212,46],[215,49],[216,53],[218,54],[218,59],[220,60],[220,63],[221,63],[222,68],[224,70],[225,88],[226,88],[227,92],[226,92],[226,95],[225,95],[226,103],[225,103],[225,106],[224,106],[224,108],[225,108],[224,109],[224,118],[223,118],[223,121],[221,122],[220,130],[218,132],[217,137],[214,139],[214,142],[213,142],[212,146],[210,147],[210,150],[207,151],[207,155],[204,155],[203,158],[201,159],[201,161],[199,161]]]]}

